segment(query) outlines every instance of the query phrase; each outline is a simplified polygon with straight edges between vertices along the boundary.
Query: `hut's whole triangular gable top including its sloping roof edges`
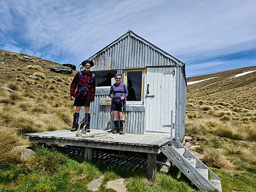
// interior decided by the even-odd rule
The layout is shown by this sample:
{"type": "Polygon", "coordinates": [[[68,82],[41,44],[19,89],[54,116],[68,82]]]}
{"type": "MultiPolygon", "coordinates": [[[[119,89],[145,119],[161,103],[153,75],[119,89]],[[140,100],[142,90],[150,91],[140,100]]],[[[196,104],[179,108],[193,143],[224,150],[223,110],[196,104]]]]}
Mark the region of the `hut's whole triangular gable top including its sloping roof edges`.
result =
{"type": "MultiPolygon", "coordinates": [[[[126,66],[134,63],[133,65],[136,66],[132,67],[138,68],[170,65],[178,65],[182,67],[185,64],[180,59],[177,59],[168,52],[153,45],[131,30],[128,30],[120,38],[116,39],[88,59],[93,60],[96,66],[106,65],[106,67],[108,67],[107,65],[110,63],[111,65],[122,63],[126,66]]],[[[130,67],[131,66],[128,68],[130,67]]]]}

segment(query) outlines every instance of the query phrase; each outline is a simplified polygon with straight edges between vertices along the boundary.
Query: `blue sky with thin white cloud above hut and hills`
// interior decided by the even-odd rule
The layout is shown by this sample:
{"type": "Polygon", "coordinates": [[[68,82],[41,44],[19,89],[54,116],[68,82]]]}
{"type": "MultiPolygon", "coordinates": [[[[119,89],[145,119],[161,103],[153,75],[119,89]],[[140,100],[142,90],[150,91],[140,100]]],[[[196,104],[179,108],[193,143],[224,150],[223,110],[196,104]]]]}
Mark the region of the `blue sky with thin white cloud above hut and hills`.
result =
{"type": "Polygon", "coordinates": [[[0,0],[0,49],[78,66],[128,29],[197,76],[256,65],[255,0],[0,0]]]}

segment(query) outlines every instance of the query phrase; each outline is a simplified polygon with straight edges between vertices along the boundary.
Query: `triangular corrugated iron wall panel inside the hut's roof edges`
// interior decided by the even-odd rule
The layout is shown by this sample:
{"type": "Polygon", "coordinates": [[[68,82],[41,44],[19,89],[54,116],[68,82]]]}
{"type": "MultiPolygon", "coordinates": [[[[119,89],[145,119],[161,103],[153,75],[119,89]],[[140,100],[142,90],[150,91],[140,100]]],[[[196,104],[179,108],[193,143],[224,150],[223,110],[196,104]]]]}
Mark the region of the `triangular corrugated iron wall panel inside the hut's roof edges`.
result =
{"type": "Polygon", "coordinates": [[[143,43],[130,35],[106,47],[90,59],[94,61],[93,70],[95,71],[176,65],[176,62],[164,56],[156,47],[143,43]]]}

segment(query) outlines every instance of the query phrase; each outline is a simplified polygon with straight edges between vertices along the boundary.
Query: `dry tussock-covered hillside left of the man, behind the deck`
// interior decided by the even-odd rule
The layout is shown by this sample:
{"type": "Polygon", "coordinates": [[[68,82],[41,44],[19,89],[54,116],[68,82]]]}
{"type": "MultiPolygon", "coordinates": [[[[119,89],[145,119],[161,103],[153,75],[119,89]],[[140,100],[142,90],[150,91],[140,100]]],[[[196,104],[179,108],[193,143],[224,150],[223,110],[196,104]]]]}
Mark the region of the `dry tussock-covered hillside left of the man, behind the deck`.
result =
{"type": "Polygon", "coordinates": [[[0,50],[2,127],[19,133],[70,127],[73,101],[69,99],[69,87],[74,74],[50,71],[55,65],[60,64],[0,50]]]}

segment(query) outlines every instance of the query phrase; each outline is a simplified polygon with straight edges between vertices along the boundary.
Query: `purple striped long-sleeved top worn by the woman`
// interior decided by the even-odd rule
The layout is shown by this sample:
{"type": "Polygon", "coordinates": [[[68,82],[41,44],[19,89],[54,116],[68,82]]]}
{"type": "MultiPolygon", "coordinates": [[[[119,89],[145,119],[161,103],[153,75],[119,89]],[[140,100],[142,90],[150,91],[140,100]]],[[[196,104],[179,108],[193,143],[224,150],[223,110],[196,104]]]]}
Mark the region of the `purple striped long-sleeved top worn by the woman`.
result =
{"type": "Polygon", "coordinates": [[[119,85],[117,85],[116,83],[114,83],[114,85],[110,87],[109,96],[111,94],[114,94],[112,102],[121,103],[120,98],[121,96],[123,96],[124,97],[123,104],[126,104],[126,98],[128,96],[128,89],[126,87],[126,84],[120,83],[119,85]]]}

